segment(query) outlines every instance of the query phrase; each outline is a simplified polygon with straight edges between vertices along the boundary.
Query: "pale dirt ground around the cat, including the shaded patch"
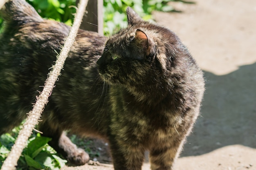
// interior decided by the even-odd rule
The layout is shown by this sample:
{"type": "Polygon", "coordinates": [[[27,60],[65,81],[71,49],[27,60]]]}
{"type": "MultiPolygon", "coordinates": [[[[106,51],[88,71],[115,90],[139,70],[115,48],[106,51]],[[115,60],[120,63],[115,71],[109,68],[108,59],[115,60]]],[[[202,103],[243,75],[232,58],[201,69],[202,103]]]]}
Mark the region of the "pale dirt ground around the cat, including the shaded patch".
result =
{"type": "MultiPolygon", "coordinates": [[[[182,13],[154,13],[188,46],[206,79],[201,115],[175,170],[256,170],[256,0],[193,1],[173,2],[182,13]]],[[[143,170],[149,167],[146,161],[143,170]]]]}

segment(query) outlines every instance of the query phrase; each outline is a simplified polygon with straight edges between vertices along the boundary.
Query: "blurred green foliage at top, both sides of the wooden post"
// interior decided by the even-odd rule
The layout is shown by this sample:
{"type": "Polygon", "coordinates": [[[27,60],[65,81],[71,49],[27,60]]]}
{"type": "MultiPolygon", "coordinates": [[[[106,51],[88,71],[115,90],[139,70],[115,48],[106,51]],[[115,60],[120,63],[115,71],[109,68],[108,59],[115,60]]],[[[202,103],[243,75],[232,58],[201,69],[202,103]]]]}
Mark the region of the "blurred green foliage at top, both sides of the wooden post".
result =
{"type": "MultiPolygon", "coordinates": [[[[152,20],[152,12],[170,12],[175,9],[168,5],[170,1],[184,0],[104,0],[103,1],[103,26],[105,34],[112,34],[127,25],[126,8],[132,7],[144,20],[152,20]]],[[[43,18],[53,19],[72,25],[76,12],[72,6],[76,5],[76,0],[27,0],[43,18]]],[[[2,19],[0,18],[0,26],[2,19]]]]}

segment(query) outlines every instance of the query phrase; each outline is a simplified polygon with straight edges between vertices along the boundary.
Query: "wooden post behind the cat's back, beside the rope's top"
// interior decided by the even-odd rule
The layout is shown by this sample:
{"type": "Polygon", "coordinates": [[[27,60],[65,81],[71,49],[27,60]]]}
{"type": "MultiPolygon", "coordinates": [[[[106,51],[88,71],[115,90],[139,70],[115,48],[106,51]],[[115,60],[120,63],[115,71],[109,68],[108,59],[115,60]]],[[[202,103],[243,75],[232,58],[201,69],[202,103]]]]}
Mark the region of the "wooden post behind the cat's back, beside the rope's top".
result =
{"type": "Polygon", "coordinates": [[[80,29],[103,35],[103,0],[88,0],[80,29]]]}

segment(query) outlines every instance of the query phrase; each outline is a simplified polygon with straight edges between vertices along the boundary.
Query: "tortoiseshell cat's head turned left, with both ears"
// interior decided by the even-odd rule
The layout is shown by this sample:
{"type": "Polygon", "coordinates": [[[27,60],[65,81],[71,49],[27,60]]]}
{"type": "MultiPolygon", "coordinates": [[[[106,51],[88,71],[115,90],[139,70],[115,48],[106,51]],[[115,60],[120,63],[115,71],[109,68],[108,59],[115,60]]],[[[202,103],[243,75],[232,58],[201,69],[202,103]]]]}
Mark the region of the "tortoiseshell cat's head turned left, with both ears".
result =
{"type": "Polygon", "coordinates": [[[184,47],[169,29],[142,20],[130,7],[126,11],[128,27],[106,42],[97,61],[99,73],[109,84],[162,86],[161,79],[171,71],[173,58],[184,47]]]}

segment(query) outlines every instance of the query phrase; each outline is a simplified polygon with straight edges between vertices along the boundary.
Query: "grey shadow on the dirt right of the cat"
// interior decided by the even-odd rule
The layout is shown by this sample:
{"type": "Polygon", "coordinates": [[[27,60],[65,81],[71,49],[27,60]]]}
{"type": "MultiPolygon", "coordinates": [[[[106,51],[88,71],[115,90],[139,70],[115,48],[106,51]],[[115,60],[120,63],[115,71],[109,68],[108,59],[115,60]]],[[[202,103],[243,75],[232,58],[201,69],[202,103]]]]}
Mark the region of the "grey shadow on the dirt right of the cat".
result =
{"type": "Polygon", "coordinates": [[[256,148],[256,63],[227,75],[204,72],[201,116],[180,157],[240,144],[256,148]]]}

